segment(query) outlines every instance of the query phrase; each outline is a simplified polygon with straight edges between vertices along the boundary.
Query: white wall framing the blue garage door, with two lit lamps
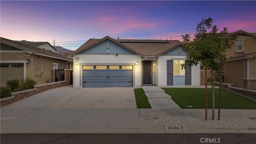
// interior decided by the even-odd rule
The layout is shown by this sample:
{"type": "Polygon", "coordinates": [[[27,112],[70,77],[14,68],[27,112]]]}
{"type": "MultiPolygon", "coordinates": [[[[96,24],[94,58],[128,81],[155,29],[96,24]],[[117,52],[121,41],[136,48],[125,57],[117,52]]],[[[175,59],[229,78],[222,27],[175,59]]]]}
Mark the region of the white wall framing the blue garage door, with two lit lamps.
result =
{"type": "Polygon", "coordinates": [[[117,57],[113,54],[76,54],[74,55],[74,87],[82,87],[82,66],[76,65],[76,58],[79,63],[136,63],[133,66],[133,86],[141,85],[141,57],[139,55],[121,55],[117,57]]]}

